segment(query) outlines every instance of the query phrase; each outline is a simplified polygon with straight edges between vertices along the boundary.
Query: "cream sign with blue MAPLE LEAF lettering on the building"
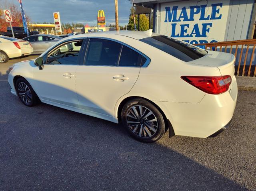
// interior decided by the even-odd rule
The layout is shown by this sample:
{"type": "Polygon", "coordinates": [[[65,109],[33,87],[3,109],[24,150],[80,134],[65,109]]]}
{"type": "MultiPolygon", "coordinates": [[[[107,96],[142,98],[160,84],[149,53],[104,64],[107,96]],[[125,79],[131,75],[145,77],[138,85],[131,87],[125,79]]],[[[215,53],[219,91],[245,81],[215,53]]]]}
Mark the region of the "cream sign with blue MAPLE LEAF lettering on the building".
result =
{"type": "Polygon", "coordinates": [[[229,0],[162,4],[160,33],[188,43],[224,41],[229,0]]]}

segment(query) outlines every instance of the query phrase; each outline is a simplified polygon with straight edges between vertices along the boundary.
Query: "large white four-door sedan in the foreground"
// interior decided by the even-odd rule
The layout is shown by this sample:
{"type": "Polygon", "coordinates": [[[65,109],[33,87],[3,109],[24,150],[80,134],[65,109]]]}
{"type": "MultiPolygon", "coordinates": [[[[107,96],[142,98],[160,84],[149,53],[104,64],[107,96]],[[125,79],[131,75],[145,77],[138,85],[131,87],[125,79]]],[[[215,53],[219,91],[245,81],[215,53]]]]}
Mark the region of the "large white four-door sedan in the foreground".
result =
{"type": "Polygon", "coordinates": [[[16,63],[8,82],[26,106],[41,101],[120,122],[142,142],[157,141],[168,129],[169,136],[206,138],[233,116],[234,61],[232,54],[152,31],[89,33],[16,63]],[[79,51],[54,54],[67,43],[79,51]]]}

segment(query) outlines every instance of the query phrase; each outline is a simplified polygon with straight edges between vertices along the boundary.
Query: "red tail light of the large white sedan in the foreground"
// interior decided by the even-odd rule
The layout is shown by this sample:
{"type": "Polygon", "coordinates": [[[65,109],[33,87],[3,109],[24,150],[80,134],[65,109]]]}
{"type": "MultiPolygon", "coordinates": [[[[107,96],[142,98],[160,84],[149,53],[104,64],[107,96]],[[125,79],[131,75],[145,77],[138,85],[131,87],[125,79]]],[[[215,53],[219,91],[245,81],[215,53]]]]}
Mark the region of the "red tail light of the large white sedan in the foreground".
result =
{"type": "Polygon", "coordinates": [[[222,94],[231,84],[230,75],[226,76],[182,76],[181,79],[209,94],[222,94]]]}

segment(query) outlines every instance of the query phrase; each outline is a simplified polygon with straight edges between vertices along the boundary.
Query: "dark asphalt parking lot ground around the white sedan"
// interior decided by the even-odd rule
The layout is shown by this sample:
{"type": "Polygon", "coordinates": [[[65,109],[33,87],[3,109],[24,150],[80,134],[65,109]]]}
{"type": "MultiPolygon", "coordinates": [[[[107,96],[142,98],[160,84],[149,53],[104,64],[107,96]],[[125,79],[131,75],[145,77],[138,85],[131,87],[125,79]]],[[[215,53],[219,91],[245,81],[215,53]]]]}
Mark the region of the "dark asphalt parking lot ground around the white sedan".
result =
{"type": "MultiPolygon", "coordinates": [[[[168,133],[154,144],[118,124],[55,106],[26,107],[0,65],[0,190],[256,190],[256,91],[238,91],[215,138],[168,133]]],[[[184,119],[185,120],[185,119],[184,119]]]]}

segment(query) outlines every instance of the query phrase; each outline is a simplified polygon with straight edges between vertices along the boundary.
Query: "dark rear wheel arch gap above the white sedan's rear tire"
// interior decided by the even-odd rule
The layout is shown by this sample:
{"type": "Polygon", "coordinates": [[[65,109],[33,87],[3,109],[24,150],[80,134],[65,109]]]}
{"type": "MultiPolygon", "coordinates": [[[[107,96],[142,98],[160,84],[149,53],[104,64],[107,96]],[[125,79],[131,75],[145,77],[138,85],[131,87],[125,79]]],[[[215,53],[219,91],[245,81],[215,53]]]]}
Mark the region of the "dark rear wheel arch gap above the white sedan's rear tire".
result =
{"type": "Polygon", "coordinates": [[[117,108],[117,117],[118,117],[119,123],[121,122],[121,112],[122,112],[122,108],[123,108],[124,104],[126,104],[126,102],[128,102],[129,100],[132,100],[134,98],[144,99],[144,100],[150,102],[152,105],[154,105],[159,110],[159,112],[162,114],[162,116],[164,118],[165,131],[167,131],[169,129],[169,137],[174,136],[174,130],[172,128],[172,124],[171,124],[170,120],[168,120],[166,118],[166,115],[164,114],[163,110],[156,103],[152,102],[151,100],[149,100],[147,98],[141,97],[141,96],[129,96],[129,97],[124,98],[120,102],[120,104],[118,105],[118,108],[117,108]]]}

